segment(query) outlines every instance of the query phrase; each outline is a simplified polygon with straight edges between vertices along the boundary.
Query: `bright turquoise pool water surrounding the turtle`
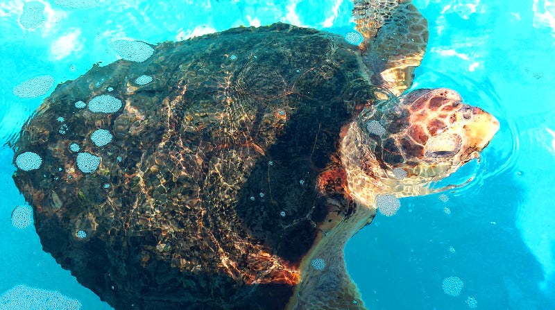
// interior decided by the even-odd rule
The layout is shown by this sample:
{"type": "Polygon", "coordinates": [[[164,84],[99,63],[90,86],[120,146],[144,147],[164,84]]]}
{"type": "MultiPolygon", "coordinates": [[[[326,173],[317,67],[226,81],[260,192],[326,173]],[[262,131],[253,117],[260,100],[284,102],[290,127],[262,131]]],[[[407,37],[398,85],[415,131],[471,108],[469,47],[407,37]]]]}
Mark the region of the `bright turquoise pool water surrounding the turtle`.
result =
{"type": "MultiPolygon", "coordinates": [[[[46,74],[61,83],[96,62],[117,60],[113,40],[182,40],[274,21],[352,27],[352,4],[339,0],[60,5],[70,2],[44,1],[38,17],[25,15],[24,1],[0,3],[2,145],[53,90],[24,99],[12,94],[14,87],[46,74]]],[[[404,198],[395,216],[378,215],[355,235],[345,249],[348,271],[369,309],[555,309],[555,6],[540,0],[414,3],[429,21],[430,39],[413,87],[456,89],[494,114],[501,129],[479,164],[450,178],[474,175],[472,182],[443,199],[404,198]],[[450,277],[463,283],[458,296],[442,289],[450,277]]],[[[11,180],[12,157],[3,146],[0,294],[24,284],[58,291],[78,300],[80,309],[111,309],[42,251],[32,226],[12,225],[12,210],[25,205],[11,180]]]]}

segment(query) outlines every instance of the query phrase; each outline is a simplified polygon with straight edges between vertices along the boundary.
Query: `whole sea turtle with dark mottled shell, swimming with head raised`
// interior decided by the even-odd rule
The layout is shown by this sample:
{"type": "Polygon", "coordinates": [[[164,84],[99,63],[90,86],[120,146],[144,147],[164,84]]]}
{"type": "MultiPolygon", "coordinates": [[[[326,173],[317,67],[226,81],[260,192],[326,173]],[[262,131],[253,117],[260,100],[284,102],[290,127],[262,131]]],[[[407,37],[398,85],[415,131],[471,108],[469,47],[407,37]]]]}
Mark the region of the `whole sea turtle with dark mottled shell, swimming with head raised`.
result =
{"type": "Polygon", "coordinates": [[[233,28],[58,85],[14,146],[44,250],[115,309],[364,309],[345,242],[499,123],[450,89],[397,96],[427,42],[410,1],[353,14],[359,45],[233,28]]]}

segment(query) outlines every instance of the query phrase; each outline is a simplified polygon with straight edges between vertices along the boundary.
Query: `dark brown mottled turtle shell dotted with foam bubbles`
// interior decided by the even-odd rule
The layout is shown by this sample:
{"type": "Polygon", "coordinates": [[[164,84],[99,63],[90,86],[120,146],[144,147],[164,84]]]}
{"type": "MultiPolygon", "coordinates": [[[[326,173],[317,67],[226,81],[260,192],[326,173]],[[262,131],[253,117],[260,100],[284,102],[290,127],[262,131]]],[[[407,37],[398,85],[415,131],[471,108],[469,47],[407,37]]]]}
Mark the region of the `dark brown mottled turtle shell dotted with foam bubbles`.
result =
{"type": "Polygon", "coordinates": [[[327,216],[318,175],[373,102],[358,46],[273,24],[152,48],[24,126],[15,156],[42,162],[13,178],[44,250],[115,309],[286,307],[327,216]]]}

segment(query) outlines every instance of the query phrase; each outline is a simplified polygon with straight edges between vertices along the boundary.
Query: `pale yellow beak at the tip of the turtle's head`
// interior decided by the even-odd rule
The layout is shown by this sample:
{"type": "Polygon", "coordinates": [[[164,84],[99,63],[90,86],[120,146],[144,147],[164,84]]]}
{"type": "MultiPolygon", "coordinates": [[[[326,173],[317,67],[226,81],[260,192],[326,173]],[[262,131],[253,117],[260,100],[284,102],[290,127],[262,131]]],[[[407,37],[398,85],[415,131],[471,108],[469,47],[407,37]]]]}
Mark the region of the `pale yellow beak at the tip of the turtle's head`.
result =
{"type": "Polygon", "coordinates": [[[482,150],[490,143],[499,130],[499,121],[488,112],[479,107],[472,107],[472,121],[466,124],[466,137],[468,146],[475,150],[482,150]]]}

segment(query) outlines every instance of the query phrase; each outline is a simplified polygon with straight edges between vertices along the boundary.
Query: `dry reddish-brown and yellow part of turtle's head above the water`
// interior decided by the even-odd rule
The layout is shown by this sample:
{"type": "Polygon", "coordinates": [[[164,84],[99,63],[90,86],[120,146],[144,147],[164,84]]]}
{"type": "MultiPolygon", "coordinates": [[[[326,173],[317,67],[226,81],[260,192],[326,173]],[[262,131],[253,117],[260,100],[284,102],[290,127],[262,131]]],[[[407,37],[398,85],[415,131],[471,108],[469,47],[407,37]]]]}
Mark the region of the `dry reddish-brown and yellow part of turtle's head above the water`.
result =
{"type": "Polygon", "coordinates": [[[413,162],[408,166],[443,165],[456,170],[479,158],[499,129],[493,115],[463,103],[451,89],[417,89],[402,96],[400,106],[407,110],[408,119],[397,139],[406,160],[413,162]]]}

